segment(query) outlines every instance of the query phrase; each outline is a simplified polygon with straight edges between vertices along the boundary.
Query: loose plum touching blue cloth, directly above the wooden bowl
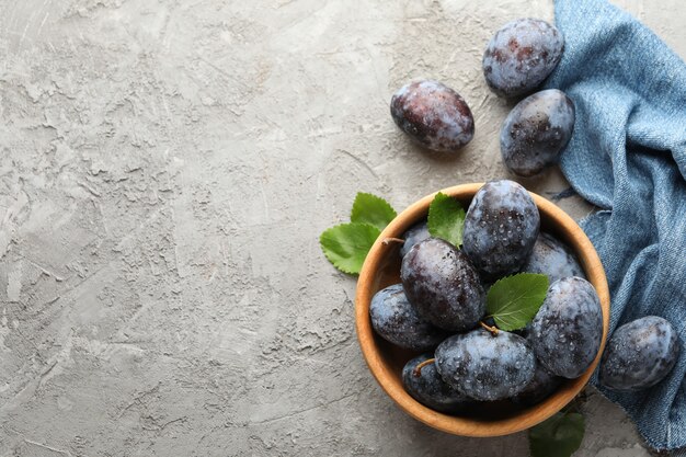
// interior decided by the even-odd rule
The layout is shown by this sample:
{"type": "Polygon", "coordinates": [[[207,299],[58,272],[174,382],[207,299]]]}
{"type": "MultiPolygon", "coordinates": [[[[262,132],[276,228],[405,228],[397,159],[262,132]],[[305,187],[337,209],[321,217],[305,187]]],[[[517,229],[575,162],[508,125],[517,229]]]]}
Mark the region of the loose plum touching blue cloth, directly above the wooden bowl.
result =
{"type": "Polygon", "coordinates": [[[500,151],[516,175],[534,176],[557,163],[574,129],[574,103],[557,89],[527,96],[510,112],[500,132],[500,151]]]}

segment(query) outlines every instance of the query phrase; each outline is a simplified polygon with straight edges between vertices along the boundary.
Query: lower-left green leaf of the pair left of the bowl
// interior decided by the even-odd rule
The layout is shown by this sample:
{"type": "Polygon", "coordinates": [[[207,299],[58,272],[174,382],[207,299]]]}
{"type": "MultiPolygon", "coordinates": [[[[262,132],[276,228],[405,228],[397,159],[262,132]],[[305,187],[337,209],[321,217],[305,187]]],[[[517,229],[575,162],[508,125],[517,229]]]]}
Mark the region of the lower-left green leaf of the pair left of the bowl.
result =
{"type": "Polygon", "coordinates": [[[319,243],[333,266],[343,273],[357,274],[379,235],[381,230],[369,224],[341,224],[324,230],[319,243]]]}

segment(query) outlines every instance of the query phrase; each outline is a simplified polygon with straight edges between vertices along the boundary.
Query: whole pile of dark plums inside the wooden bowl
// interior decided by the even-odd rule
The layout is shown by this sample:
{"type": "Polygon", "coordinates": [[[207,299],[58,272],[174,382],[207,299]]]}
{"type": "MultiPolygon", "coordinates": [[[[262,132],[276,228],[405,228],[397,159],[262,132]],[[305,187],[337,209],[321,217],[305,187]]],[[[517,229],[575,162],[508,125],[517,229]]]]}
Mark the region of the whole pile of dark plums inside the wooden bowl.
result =
{"type": "Polygon", "coordinates": [[[381,338],[422,353],[402,374],[418,401],[447,413],[504,399],[533,404],[592,364],[603,335],[598,296],[571,250],[539,227],[529,193],[502,180],[471,201],[461,248],[432,238],[426,221],[404,233],[401,284],[379,290],[369,315],[381,338]],[[535,319],[517,332],[480,327],[489,285],[516,272],[551,283],[535,319]]]}

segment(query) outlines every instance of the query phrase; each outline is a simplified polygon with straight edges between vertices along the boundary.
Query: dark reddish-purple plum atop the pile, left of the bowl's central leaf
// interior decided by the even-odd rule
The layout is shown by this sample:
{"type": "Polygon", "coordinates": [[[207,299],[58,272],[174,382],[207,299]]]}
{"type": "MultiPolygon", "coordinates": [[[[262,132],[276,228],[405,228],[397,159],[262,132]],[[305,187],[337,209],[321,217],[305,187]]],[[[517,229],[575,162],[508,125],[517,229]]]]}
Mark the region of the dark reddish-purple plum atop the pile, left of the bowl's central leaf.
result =
{"type": "Polygon", "coordinates": [[[445,330],[477,325],[485,293],[467,255],[437,238],[416,243],[402,259],[400,279],[418,313],[445,330]]]}

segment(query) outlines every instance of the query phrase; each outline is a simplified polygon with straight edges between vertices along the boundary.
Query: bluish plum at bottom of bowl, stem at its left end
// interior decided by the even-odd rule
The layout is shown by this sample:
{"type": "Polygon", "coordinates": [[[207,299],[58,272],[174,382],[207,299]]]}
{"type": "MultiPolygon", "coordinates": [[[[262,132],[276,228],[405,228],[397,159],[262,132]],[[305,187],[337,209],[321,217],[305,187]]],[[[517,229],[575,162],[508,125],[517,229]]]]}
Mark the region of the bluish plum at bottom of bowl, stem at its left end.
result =
{"type": "Polygon", "coordinates": [[[436,367],[443,380],[464,395],[492,401],[519,393],[534,378],[536,358],[522,336],[477,329],[441,343],[436,367]]]}

